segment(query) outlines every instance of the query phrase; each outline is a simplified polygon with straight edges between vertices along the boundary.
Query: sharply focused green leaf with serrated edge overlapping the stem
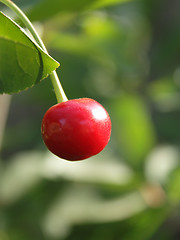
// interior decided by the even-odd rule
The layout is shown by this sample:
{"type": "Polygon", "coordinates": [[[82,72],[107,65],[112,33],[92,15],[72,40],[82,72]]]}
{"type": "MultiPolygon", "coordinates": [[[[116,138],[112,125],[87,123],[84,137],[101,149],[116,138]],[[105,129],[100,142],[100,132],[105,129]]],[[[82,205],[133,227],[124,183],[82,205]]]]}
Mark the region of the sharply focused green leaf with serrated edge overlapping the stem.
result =
{"type": "Polygon", "coordinates": [[[46,78],[59,63],[0,12],[0,93],[16,93],[46,78]]]}

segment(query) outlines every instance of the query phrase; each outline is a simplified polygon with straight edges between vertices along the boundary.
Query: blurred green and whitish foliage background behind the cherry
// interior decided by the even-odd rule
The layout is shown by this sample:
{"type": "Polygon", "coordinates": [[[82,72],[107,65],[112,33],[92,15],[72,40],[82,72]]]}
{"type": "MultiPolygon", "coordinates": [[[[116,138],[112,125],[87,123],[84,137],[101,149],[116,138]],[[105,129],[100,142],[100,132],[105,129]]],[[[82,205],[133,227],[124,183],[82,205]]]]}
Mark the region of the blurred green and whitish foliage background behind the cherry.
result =
{"type": "Polygon", "coordinates": [[[14,2],[68,98],[99,101],[112,136],[91,159],[58,159],[40,133],[50,79],[2,95],[0,240],[180,239],[180,1],[14,2]]]}

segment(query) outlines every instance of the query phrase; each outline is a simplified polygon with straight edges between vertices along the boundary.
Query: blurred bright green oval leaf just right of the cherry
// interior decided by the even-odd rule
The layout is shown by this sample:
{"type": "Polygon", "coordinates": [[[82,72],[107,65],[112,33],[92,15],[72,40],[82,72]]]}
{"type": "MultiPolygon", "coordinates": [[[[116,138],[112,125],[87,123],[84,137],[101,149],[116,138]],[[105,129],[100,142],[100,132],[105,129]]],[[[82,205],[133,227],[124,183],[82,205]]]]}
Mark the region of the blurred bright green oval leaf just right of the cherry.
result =
{"type": "Polygon", "coordinates": [[[112,103],[112,120],[121,154],[133,167],[142,166],[156,141],[143,98],[135,94],[121,96],[112,103]]]}

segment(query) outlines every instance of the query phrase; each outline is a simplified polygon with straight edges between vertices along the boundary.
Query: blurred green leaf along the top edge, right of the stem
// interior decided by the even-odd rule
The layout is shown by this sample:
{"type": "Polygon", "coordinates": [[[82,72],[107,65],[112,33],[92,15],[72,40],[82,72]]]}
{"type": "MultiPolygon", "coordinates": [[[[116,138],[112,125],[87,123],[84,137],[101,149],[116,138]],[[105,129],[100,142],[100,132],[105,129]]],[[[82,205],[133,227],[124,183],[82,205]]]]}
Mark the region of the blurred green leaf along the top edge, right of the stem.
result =
{"type": "Polygon", "coordinates": [[[36,4],[28,13],[32,21],[43,20],[58,13],[75,13],[92,10],[131,0],[44,0],[36,4]]]}

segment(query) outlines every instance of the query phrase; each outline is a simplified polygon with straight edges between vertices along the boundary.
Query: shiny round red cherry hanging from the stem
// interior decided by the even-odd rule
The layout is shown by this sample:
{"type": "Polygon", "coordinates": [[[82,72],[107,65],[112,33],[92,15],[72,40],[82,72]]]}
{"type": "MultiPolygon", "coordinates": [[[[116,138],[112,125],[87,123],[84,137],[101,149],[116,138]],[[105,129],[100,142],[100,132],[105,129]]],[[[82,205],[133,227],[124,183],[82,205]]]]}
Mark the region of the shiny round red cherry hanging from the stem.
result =
{"type": "Polygon", "coordinates": [[[58,157],[82,160],[105,148],[111,135],[111,120],[95,100],[73,99],[47,110],[41,133],[47,148],[58,157]]]}

